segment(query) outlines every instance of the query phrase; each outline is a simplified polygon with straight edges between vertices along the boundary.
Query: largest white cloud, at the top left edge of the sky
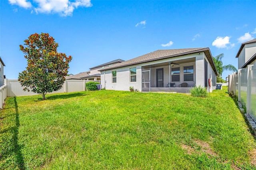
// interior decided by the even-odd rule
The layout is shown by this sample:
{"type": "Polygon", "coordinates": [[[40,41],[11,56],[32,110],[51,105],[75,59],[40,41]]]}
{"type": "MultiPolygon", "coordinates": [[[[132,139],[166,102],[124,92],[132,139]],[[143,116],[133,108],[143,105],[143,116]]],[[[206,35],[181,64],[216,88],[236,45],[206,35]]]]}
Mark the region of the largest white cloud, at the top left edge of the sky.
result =
{"type": "Polygon", "coordinates": [[[36,13],[59,13],[62,16],[72,16],[74,9],[79,6],[92,6],[90,0],[9,0],[9,2],[22,8],[33,8],[36,13]],[[34,4],[32,5],[30,1],[34,4]]]}

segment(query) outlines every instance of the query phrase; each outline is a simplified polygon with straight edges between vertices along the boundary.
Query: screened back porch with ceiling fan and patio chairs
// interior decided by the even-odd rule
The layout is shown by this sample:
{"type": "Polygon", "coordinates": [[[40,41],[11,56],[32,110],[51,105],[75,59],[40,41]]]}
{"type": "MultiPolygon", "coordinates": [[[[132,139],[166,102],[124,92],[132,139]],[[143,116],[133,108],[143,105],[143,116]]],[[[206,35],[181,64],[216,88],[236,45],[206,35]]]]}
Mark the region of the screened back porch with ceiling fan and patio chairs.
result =
{"type": "Polygon", "coordinates": [[[142,66],[142,91],[190,93],[195,66],[195,58],[142,66]]]}

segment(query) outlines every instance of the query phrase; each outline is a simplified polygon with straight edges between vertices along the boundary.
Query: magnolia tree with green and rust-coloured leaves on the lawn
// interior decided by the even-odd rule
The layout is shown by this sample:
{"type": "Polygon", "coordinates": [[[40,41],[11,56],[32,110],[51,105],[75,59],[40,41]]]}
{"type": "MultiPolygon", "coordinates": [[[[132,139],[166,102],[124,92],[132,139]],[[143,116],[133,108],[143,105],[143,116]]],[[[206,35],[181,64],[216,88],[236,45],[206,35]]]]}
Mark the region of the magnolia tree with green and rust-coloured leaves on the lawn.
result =
{"type": "Polygon", "coordinates": [[[58,43],[48,33],[32,34],[24,42],[25,47],[20,45],[20,50],[28,66],[19,73],[18,81],[24,91],[41,94],[44,100],[46,93],[62,88],[72,57],[58,53],[58,43]]]}

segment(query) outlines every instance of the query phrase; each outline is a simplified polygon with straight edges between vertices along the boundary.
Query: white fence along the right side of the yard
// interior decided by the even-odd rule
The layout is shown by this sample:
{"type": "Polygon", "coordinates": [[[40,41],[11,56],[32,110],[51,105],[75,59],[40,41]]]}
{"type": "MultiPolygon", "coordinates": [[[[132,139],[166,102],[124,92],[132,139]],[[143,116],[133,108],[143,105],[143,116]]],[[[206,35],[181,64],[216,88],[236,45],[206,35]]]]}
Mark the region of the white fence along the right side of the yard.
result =
{"type": "Polygon", "coordinates": [[[228,92],[238,97],[238,101],[246,106],[246,112],[256,121],[256,65],[248,65],[230,74],[228,92]]]}

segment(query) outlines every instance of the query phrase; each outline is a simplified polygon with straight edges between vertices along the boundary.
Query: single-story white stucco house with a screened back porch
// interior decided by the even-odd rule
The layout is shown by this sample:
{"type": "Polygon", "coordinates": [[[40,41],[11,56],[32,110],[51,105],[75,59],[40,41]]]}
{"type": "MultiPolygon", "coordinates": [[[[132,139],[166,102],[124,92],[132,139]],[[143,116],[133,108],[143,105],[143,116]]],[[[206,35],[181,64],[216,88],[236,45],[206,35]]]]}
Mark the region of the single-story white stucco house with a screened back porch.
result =
{"type": "Polygon", "coordinates": [[[209,48],[157,50],[100,69],[102,88],[142,92],[188,92],[201,85],[208,92],[216,88],[218,75],[209,48]]]}

